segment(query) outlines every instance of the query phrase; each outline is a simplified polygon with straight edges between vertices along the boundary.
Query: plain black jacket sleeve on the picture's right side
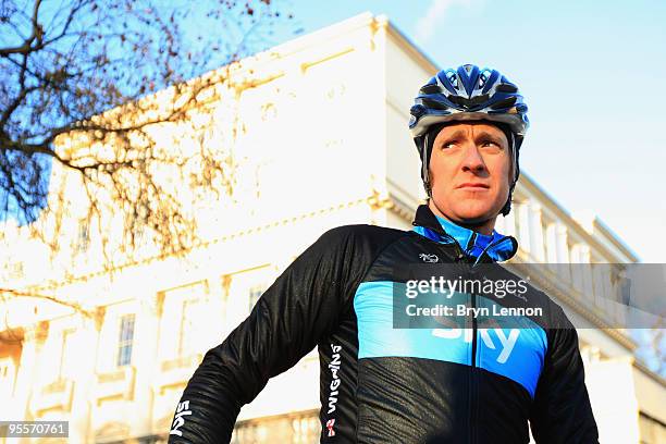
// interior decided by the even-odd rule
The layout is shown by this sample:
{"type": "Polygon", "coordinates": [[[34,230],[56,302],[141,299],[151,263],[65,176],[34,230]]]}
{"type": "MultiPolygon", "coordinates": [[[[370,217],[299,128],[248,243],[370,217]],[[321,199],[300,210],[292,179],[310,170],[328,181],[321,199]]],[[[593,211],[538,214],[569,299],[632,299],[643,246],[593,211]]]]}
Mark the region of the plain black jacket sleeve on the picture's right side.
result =
{"type": "Polygon", "coordinates": [[[599,444],[599,431],[585,386],[578,333],[562,308],[530,414],[538,444],[599,444]]]}

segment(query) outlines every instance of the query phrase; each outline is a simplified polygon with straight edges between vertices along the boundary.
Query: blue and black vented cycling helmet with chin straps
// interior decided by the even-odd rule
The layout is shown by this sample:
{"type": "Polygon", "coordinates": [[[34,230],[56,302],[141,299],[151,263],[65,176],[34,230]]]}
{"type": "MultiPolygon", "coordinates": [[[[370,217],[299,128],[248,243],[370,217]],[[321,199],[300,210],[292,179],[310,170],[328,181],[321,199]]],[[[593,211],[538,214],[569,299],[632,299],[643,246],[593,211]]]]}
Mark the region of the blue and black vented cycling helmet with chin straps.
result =
{"type": "MultiPolygon", "coordinates": [[[[428,163],[434,137],[446,123],[456,121],[490,121],[507,134],[515,166],[513,193],[520,174],[520,145],[530,124],[527,111],[518,87],[490,67],[466,64],[442,70],[428,81],[409,110],[409,130],[421,157],[421,177],[428,195],[431,194],[428,163]]],[[[502,214],[510,211],[510,193],[502,214]]]]}

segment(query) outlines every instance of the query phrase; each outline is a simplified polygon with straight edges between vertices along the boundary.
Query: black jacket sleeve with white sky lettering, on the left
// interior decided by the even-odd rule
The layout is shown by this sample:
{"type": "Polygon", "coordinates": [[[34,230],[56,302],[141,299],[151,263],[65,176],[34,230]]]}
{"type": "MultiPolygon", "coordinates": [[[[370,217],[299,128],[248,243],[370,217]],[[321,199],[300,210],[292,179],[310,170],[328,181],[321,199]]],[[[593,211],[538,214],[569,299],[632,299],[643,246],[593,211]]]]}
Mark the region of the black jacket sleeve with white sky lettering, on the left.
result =
{"type": "Polygon", "coordinates": [[[229,443],[240,407],[337,324],[350,303],[350,237],[348,226],[324,233],[206,354],[176,407],[169,443],[229,443]]]}

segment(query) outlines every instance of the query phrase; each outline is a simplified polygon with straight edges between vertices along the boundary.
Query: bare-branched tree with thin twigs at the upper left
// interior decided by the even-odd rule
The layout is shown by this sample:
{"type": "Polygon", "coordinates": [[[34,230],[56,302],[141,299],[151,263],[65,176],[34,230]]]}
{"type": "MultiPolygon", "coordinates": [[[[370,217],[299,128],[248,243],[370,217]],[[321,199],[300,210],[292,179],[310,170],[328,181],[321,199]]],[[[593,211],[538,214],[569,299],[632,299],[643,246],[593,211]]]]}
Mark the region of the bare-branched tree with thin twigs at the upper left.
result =
{"type": "MultiPolygon", "coordinates": [[[[184,199],[233,189],[233,158],[203,130],[229,81],[219,67],[261,49],[280,20],[270,0],[2,0],[0,215],[57,251],[59,221],[73,217],[51,183],[63,169],[85,192],[74,202],[85,230],[103,230],[106,211],[121,214],[131,247],[146,230],[161,254],[194,245],[184,199]],[[164,131],[193,140],[177,148],[164,131]],[[178,194],[173,175],[192,193],[178,194]],[[34,223],[45,214],[54,219],[34,223]]],[[[109,259],[118,245],[102,240],[109,259]]]]}

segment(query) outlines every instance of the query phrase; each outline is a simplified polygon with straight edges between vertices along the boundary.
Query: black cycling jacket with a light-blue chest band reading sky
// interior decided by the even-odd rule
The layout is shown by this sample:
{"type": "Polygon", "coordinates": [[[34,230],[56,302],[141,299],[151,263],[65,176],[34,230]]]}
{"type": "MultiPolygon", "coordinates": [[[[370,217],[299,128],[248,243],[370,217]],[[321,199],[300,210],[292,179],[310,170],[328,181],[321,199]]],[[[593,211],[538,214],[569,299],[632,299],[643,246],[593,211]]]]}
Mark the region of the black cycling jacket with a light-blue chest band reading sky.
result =
{"type": "MultiPolygon", "coordinates": [[[[427,206],[414,224],[446,236],[427,206]]],[[[435,258],[468,261],[457,243],[415,231],[348,225],[323,234],[206,354],[169,442],[229,442],[240,407],[318,346],[322,443],[528,443],[528,421],[539,444],[597,443],[577,332],[542,292],[502,299],[545,308],[538,328],[515,335],[481,331],[476,320],[465,332],[394,329],[396,267],[435,258]]]]}

